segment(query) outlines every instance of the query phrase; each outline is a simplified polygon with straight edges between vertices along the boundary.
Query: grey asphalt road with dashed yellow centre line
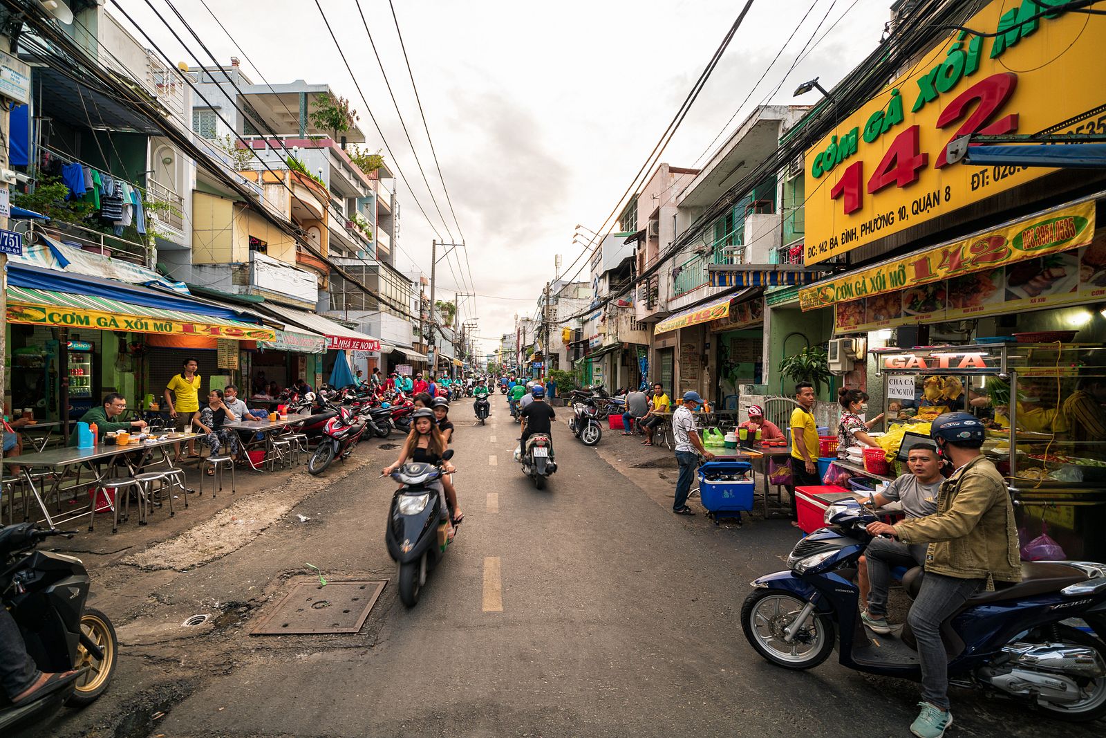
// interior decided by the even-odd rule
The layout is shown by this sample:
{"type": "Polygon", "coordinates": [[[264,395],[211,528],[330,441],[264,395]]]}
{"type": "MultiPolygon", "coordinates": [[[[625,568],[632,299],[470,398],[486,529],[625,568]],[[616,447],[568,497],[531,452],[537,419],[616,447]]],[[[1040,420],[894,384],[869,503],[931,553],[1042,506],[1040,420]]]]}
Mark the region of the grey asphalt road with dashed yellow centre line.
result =
{"type": "MultiPolygon", "coordinates": [[[[38,735],[909,735],[915,685],[833,657],[790,673],[745,643],[741,603],[750,580],[782,568],[796,539],[785,521],[674,516],[675,474],[624,476],[572,438],[564,408],[560,469],[538,491],[511,459],[518,426],[501,397],[493,412],[483,427],[469,426],[468,402],[451,414],[466,521],[417,607],[398,602],[383,541],[393,482],[378,469],[396,450],[371,441],[357,451],[368,464],[328,472],[331,484],[227,555],[206,562],[197,544],[196,565],[115,562],[94,574],[97,606],[122,611],[117,684],[38,735]],[[309,562],[328,580],[388,580],[362,631],[250,635],[314,575],[309,562]],[[180,626],[197,613],[212,617],[180,626]],[[111,731],[97,727],[127,710],[111,731]]],[[[618,444],[639,450],[615,434],[602,444],[606,458],[618,444]]],[[[964,693],[953,715],[953,736],[1078,738],[1104,727],[964,693]]]]}

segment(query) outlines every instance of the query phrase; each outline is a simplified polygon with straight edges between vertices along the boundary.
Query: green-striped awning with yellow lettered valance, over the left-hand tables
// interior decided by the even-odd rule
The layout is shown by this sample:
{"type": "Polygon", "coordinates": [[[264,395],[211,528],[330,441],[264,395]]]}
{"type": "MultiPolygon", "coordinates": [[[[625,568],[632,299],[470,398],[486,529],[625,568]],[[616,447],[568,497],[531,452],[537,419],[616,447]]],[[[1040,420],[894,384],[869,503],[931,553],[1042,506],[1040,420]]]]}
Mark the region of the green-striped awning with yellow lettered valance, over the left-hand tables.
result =
{"type": "Polygon", "coordinates": [[[90,294],[8,285],[10,323],[101,331],[192,335],[234,341],[272,341],[275,331],[255,323],[136,305],[90,294]]]}

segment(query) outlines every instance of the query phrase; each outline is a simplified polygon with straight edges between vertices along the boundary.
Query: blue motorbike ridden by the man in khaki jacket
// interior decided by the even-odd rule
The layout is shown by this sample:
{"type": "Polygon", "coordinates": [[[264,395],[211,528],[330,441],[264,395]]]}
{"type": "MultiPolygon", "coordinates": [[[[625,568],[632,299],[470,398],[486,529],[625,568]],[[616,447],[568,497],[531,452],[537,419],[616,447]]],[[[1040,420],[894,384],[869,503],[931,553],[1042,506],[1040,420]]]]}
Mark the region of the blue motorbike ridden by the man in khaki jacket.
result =
{"type": "MultiPolygon", "coordinates": [[[[883,636],[860,621],[854,580],[872,540],[865,527],[876,517],[846,500],[830,506],[825,520],[828,527],[792,550],[787,571],[752,583],[741,609],[750,645],[778,666],[806,669],[839,642],[847,668],[920,680],[909,624],[883,636]]],[[[911,600],[921,579],[921,568],[902,578],[911,600]]],[[[1021,582],[995,586],[970,597],[941,626],[949,683],[1035,703],[1064,720],[1106,715],[1106,565],[1023,562],[1021,582]]]]}

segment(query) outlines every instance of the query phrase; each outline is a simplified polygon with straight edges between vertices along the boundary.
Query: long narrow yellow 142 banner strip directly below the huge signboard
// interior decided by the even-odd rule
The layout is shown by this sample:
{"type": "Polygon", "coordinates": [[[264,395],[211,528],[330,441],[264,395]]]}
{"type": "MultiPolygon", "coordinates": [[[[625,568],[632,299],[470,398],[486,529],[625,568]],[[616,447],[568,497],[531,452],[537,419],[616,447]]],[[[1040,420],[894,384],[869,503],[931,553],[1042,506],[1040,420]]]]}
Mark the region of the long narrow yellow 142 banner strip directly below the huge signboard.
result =
{"type": "Polygon", "coordinates": [[[803,310],[815,310],[905,287],[943,282],[952,277],[1086,246],[1094,232],[1094,201],[1057,208],[1005,228],[818,282],[799,291],[799,304],[803,310]]]}

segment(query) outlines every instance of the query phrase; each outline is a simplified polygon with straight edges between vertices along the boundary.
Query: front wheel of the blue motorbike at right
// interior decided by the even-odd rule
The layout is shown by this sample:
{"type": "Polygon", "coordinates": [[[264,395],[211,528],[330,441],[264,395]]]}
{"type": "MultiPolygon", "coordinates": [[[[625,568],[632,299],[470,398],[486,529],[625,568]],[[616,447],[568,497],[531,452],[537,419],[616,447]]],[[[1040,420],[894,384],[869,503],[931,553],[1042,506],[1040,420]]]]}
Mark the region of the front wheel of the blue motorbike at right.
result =
{"type": "Polygon", "coordinates": [[[753,651],[776,666],[813,668],[830,657],[834,646],[833,621],[811,613],[807,624],[789,644],[783,628],[791,625],[806,605],[799,597],[779,590],[757,590],[741,607],[741,630],[753,651]]]}

